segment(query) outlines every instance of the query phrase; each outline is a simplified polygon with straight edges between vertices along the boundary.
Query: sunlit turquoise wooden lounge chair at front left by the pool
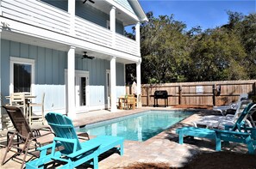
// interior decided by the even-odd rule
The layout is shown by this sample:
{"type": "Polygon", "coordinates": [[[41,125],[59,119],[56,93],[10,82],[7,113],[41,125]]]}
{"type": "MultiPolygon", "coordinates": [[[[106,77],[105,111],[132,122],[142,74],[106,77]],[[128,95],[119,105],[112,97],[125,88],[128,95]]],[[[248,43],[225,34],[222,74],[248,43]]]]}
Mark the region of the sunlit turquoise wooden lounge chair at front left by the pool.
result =
{"type": "Polygon", "coordinates": [[[26,163],[26,168],[44,168],[47,163],[61,161],[65,164],[59,168],[74,168],[85,162],[98,168],[98,156],[111,148],[118,146],[119,154],[123,154],[124,139],[119,136],[97,136],[86,142],[79,142],[72,120],[65,115],[49,112],[46,115],[48,124],[52,127],[55,137],[53,143],[38,148],[40,158],[26,163]],[[56,149],[61,149],[56,151],[56,149]],[[51,150],[47,154],[47,150],[51,150]]]}

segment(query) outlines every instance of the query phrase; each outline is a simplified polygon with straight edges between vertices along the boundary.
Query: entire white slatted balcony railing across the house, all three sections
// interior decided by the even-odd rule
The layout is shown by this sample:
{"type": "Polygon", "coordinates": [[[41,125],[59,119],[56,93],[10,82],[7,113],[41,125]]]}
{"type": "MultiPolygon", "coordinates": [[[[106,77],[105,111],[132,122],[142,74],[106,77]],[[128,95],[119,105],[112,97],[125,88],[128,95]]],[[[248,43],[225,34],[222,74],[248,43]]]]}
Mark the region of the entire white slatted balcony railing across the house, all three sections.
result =
{"type": "MultiPolygon", "coordinates": [[[[91,21],[75,17],[75,25],[71,25],[71,15],[47,3],[37,0],[2,0],[1,9],[5,18],[13,21],[47,29],[54,33],[61,33],[91,43],[114,48],[133,55],[139,55],[139,45],[133,39],[128,39],[112,32],[91,21]],[[74,29],[74,33],[72,30],[74,29]],[[116,40],[114,40],[116,39],[116,40]],[[114,42],[114,43],[113,43],[114,42]]],[[[11,28],[11,27],[10,27],[11,28]]],[[[21,32],[29,31],[22,30],[21,32]]],[[[52,38],[52,37],[51,37],[52,38]]]]}

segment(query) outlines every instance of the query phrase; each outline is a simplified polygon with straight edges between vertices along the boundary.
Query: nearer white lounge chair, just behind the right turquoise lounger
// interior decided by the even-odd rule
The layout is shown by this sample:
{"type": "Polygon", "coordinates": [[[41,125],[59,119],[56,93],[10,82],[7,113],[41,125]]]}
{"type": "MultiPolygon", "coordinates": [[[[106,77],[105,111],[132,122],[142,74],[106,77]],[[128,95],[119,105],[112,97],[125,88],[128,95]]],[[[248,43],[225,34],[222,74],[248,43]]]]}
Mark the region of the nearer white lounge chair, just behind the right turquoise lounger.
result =
{"type": "MultiPolygon", "coordinates": [[[[240,101],[238,108],[236,109],[236,112],[234,115],[228,114],[226,116],[206,116],[202,119],[193,122],[195,127],[203,126],[206,128],[219,128],[224,129],[225,125],[234,125],[237,118],[240,117],[241,112],[247,107],[248,104],[252,103],[252,100],[242,100],[240,101]]],[[[251,116],[250,114],[249,116],[251,116]]],[[[247,117],[248,118],[248,117],[247,117]]],[[[249,120],[245,119],[248,126],[252,127],[255,124],[252,124],[249,120]]]]}

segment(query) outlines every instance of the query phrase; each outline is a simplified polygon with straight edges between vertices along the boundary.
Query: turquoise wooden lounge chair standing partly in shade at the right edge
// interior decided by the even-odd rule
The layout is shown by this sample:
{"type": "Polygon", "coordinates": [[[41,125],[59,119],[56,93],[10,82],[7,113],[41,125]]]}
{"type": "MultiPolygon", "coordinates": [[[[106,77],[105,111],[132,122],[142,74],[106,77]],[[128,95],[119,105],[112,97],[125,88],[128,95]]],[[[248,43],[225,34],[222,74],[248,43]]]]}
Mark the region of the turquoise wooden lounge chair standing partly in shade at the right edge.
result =
{"type": "Polygon", "coordinates": [[[176,130],[178,142],[183,144],[184,136],[196,136],[215,140],[216,151],[221,151],[222,141],[247,144],[248,153],[254,154],[256,147],[256,129],[245,125],[246,118],[256,111],[256,104],[250,103],[240,114],[234,126],[225,126],[225,130],[210,130],[196,127],[183,127],[176,130]],[[243,131],[243,132],[242,132],[243,131]]]}

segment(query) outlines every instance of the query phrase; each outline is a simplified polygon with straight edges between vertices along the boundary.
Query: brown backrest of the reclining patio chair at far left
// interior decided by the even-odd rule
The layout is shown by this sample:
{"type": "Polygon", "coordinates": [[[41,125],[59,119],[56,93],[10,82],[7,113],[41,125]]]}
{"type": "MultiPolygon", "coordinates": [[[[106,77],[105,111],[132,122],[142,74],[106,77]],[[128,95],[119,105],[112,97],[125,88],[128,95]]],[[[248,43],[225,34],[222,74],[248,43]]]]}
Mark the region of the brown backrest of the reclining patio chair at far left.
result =
{"type": "Polygon", "coordinates": [[[17,132],[24,138],[33,136],[33,132],[24,117],[22,110],[16,106],[3,106],[17,132]]]}

